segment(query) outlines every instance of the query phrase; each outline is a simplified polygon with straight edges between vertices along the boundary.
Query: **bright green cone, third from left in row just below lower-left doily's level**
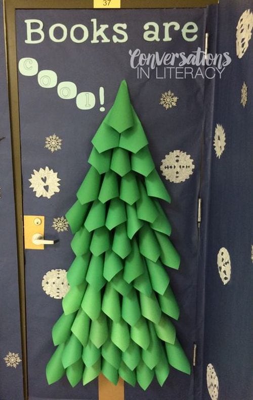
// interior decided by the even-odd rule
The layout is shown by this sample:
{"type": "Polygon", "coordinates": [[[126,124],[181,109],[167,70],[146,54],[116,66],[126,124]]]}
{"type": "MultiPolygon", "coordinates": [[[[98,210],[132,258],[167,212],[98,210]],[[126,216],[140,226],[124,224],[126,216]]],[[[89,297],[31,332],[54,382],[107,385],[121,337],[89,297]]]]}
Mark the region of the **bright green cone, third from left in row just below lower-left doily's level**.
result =
{"type": "Polygon", "coordinates": [[[119,294],[110,282],[106,285],[102,302],[102,310],[112,321],[120,321],[121,309],[119,294]]]}

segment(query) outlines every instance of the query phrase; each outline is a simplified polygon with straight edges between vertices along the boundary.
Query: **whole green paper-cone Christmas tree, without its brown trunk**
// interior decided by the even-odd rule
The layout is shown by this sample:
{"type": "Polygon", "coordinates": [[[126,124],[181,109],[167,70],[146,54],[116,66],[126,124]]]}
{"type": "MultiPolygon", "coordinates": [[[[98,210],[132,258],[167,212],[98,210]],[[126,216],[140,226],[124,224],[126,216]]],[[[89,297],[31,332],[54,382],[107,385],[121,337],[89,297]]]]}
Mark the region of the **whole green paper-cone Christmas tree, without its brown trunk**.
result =
{"type": "Polygon", "coordinates": [[[162,385],[170,366],[189,374],[190,365],[172,322],[179,307],[166,267],[178,269],[180,257],[158,201],[170,196],[125,81],[92,144],[90,170],[66,214],[76,258],[47,379],[66,374],[72,386],[85,385],[102,372],[145,390],[154,376],[162,385]]]}

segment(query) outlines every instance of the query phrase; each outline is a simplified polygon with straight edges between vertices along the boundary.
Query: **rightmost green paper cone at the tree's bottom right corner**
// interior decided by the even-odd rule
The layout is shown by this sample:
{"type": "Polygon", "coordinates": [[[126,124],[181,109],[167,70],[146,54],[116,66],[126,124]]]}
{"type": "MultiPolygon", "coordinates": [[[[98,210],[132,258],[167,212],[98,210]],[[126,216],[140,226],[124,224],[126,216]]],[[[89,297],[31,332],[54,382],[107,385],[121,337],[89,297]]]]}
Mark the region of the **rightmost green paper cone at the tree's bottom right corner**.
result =
{"type": "Polygon", "coordinates": [[[165,343],[165,348],[166,348],[168,363],[177,370],[185,372],[186,374],[190,375],[191,373],[190,363],[178,339],[176,338],[174,344],[165,343]]]}

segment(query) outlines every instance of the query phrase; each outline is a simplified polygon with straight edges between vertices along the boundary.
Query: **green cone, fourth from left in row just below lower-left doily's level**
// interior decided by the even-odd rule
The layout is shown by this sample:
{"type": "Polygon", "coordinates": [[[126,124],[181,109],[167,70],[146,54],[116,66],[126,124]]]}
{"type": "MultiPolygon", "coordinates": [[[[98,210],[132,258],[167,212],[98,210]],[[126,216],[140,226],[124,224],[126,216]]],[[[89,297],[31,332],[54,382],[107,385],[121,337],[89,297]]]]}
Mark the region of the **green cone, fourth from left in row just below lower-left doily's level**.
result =
{"type": "Polygon", "coordinates": [[[122,318],[129,325],[134,326],[141,318],[141,310],[135,289],[122,298],[122,318]]]}

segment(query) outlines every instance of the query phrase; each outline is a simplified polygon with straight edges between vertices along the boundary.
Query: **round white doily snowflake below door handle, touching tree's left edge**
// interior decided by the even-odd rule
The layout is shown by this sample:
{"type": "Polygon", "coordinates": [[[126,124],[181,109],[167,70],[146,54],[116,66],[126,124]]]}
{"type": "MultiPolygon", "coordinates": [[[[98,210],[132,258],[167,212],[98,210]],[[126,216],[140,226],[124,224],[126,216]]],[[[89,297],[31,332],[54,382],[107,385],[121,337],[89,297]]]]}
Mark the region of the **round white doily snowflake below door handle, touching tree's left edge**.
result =
{"type": "Polygon", "coordinates": [[[63,298],[69,291],[66,271],[62,269],[48,271],[41,285],[50,297],[63,298]]]}

